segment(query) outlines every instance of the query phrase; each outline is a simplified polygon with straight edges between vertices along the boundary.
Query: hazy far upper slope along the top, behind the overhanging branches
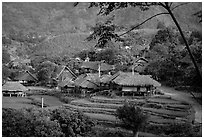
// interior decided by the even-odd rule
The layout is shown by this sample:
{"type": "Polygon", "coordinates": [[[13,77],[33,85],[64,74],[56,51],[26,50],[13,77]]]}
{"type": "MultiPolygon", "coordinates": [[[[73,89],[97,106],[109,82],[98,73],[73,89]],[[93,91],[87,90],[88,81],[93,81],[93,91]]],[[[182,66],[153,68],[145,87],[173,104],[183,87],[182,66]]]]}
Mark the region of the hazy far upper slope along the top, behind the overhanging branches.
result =
{"type": "MultiPolygon", "coordinates": [[[[178,3],[174,3],[177,5],[178,3]]],[[[40,33],[72,33],[89,32],[90,27],[104,17],[97,16],[98,9],[88,8],[89,3],[3,3],[2,31],[36,31],[40,33]]],[[[194,13],[202,9],[201,3],[189,3],[174,10],[174,13],[184,29],[201,29],[194,13]]],[[[129,27],[144,21],[144,19],[162,12],[161,7],[153,7],[147,11],[139,8],[127,8],[115,13],[115,23],[129,27]]],[[[143,28],[157,28],[158,23],[173,25],[168,15],[158,16],[147,22],[143,28]]]]}

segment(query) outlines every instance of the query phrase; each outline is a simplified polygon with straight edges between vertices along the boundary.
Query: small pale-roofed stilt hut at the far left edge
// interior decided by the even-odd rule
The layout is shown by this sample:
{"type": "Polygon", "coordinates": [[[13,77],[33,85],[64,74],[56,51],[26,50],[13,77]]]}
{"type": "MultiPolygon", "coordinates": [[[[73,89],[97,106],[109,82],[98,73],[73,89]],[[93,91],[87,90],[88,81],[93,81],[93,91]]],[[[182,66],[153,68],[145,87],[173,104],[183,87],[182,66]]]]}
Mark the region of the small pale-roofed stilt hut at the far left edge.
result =
{"type": "Polygon", "coordinates": [[[28,89],[20,84],[19,82],[16,81],[7,81],[3,86],[2,86],[2,93],[3,95],[9,95],[10,97],[12,95],[16,96],[25,96],[26,91],[28,89]]]}

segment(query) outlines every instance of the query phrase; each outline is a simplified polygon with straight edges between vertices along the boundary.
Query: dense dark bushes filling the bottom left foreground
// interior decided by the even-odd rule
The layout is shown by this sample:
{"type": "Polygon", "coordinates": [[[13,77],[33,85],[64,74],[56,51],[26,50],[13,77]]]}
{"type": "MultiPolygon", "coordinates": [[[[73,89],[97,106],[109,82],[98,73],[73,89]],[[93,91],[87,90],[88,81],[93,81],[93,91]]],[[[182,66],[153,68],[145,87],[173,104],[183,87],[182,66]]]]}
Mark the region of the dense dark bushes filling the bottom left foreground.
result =
{"type": "Polygon", "coordinates": [[[94,122],[82,113],[64,108],[56,110],[3,108],[4,137],[62,137],[89,136],[94,122]]]}

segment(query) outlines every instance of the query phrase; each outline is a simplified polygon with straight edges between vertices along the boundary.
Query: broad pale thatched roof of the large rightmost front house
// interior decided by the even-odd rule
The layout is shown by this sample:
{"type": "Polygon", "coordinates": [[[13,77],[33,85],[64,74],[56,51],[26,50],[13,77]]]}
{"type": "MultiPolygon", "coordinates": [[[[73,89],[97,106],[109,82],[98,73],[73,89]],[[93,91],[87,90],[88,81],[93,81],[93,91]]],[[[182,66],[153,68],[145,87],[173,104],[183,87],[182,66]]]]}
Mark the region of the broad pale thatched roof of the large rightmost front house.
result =
{"type": "Polygon", "coordinates": [[[161,86],[159,82],[152,79],[150,75],[132,75],[126,76],[123,79],[117,81],[122,86],[161,86]]]}

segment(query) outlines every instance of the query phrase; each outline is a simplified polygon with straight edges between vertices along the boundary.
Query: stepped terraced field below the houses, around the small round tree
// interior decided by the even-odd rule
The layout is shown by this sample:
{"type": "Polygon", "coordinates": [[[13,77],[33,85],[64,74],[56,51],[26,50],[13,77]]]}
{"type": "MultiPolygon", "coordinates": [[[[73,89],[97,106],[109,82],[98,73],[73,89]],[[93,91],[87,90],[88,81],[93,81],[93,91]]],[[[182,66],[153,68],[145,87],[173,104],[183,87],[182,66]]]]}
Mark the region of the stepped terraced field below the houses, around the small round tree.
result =
{"type": "Polygon", "coordinates": [[[80,110],[98,122],[117,123],[119,120],[115,117],[115,111],[127,101],[140,105],[144,112],[149,114],[150,124],[169,124],[194,120],[194,111],[189,104],[173,100],[169,96],[156,96],[148,99],[113,99],[94,96],[90,99],[74,100],[70,104],[64,104],[64,106],[72,111],[80,110]]]}

